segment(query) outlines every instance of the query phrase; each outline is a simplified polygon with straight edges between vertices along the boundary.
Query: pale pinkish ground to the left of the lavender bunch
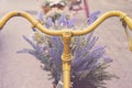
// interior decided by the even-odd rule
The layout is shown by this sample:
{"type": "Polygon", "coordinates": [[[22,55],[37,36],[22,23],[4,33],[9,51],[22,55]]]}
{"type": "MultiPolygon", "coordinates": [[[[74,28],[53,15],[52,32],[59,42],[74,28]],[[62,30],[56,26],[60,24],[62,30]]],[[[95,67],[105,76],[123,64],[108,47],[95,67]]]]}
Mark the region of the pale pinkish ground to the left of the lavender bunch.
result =
{"type": "MultiPolygon", "coordinates": [[[[12,10],[36,14],[35,0],[2,0],[0,16],[12,10]]],[[[0,32],[0,88],[52,88],[40,62],[16,51],[30,47],[22,35],[30,36],[31,24],[22,18],[11,19],[0,32]]]]}

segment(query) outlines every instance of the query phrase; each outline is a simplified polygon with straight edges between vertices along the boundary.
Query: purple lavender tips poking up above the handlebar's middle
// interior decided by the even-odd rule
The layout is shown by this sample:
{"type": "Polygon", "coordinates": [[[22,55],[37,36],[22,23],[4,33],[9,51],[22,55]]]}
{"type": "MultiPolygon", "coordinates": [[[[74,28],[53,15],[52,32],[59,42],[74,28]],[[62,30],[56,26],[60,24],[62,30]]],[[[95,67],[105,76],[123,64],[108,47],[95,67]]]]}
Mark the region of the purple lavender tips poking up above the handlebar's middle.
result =
{"type": "Polygon", "coordinates": [[[67,15],[65,13],[63,13],[59,18],[56,14],[56,15],[54,15],[52,18],[47,18],[47,20],[44,20],[43,15],[44,14],[42,12],[40,12],[38,13],[38,20],[44,22],[45,26],[47,29],[53,28],[53,24],[55,24],[55,28],[56,26],[57,28],[58,26],[59,28],[68,28],[68,29],[75,28],[76,19],[67,19],[67,15]],[[57,25],[56,25],[56,22],[57,22],[57,25]]]}

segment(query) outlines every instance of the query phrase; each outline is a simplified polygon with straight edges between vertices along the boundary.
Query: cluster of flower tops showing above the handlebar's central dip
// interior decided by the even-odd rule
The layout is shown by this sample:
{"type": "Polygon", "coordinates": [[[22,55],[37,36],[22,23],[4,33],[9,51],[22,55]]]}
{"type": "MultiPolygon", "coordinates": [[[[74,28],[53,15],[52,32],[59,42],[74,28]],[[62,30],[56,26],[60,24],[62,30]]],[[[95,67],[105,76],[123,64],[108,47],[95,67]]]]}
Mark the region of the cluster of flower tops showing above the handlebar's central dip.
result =
{"type": "MultiPolygon", "coordinates": [[[[65,13],[56,13],[48,15],[46,14],[46,19],[43,18],[43,14],[38,14],[38,20],[42,21],[47,29],[55,29],[55,30],[62,30],[62,29],[76,29],[75,22],[76,19],[70,19],[68,14],[65,13]],[[48,16],[47,16],[48,15],[48,16]]],[[[50,13],[51,14],[51,13],[50,13]]]]}

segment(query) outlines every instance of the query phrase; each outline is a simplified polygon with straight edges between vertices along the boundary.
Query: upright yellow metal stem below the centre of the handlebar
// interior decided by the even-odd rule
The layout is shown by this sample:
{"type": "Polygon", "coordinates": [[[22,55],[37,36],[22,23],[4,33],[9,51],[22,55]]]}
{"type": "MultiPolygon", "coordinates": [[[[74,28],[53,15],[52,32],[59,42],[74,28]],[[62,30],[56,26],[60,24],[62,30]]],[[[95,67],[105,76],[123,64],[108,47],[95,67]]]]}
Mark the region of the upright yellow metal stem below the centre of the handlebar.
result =
{"type": "Polygon", "coordinates": [[[72,38],[70,31],[64,30],[63,33],[64,53],[62,55],[64,88],[70,88],[70,62],[72,62],[70,38],[72,38]]]}

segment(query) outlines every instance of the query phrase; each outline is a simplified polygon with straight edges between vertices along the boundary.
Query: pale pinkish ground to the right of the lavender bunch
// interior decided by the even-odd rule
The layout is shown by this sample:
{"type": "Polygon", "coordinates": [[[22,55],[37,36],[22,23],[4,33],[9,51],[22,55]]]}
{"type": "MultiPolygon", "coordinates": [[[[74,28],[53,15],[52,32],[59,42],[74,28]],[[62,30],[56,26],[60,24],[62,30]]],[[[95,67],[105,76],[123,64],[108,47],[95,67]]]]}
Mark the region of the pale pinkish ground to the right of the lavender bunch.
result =
{"type": "MultiPolygon", "coordinates": [[[[130,0],[89,0],[90,11],[100,10],[102,13],[120,10],[132,16],[132,1],[130,0]]],[[[132,53],[129,51],[128,41],[119,18],[106,20],[97,28],[100,43],[107,45],[107,52],[113,58],[109,72],[114,73],[120,79],[108,81],[108,88],[132,88],[132,53]]]]}

